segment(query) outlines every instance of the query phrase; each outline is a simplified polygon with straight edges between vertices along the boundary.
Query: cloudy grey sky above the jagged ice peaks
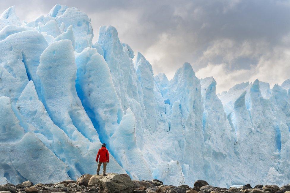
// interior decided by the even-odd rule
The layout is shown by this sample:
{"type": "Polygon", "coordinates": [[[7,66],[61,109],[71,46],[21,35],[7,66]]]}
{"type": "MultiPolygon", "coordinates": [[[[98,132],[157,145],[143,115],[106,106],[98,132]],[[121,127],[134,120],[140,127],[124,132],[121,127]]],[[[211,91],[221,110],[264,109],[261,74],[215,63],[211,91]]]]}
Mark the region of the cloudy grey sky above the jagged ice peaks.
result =
{"type": "Polygon", "coordinates": [[[15,5],[29,22],[58,3],[88,14],[93,42],[100,26],[116,27],[120,41],[168,79],[184,62],[198,78],[213,76],[217,93],[257,78],[271,86],[290,78],[290,0],[0,0],[0,12],[15,5]]]}

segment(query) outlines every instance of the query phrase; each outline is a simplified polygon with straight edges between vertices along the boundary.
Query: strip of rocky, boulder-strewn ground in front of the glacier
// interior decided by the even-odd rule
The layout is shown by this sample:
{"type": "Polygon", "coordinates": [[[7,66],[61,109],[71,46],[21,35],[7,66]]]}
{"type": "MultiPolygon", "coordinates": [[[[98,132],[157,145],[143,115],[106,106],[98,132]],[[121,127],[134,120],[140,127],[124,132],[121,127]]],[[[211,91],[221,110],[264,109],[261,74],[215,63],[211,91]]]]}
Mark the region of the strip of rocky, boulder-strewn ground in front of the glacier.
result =
{"type": "Polygon", "coordinates": [[[154,179],[152,181],[131,180],[127,174],[111,173],[107,176],[84,174],[77,181],[65,180],[58,183],[33,184],[25,181],[21,184],[7,183],[0,186],[0,193],[55,193],[55,192],[75,192],[75,193],[290,193],[290,184],[282,187],[276,185],[256,185],[250,184],[240,188],[231,187],[220,188],[210,186],[206,181],[198,180],[193,187],[187,185],[171,186],[164,185],[162,181],[154,179]]]}

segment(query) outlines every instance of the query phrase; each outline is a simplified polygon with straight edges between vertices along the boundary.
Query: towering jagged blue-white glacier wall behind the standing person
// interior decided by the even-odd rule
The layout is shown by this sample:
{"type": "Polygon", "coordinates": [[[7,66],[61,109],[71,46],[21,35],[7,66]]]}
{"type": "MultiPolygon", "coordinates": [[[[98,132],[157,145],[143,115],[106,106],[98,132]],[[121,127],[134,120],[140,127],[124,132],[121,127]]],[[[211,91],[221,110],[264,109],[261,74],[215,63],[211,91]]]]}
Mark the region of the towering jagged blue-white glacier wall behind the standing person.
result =
{"type": "Polygon", "coordinates": [[[107,171],[134,180],[215,186],[290,181],[290,79],[216,94],[189,63],[174,77],[75,7],[21,22],[0,16],[0,184],[53,183],[107,171]],[[101,169],[102,170],[102,169],[101,169]],[[102,172],[102,171],[101,171],[102,172]]]}

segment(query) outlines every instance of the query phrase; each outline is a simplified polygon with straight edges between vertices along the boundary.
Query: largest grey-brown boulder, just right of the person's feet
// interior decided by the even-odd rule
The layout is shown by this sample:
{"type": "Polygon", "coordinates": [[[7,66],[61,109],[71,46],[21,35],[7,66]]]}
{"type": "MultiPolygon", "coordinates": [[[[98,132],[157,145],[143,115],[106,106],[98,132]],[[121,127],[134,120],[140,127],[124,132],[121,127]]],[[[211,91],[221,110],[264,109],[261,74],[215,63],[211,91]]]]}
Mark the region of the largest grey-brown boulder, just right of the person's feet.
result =
{"type": "Polygon", "coordinates": [[[123,192],[132,193],[136,188],[136,184],[127,177],[119,174],[109,174],[98,180],[99,192],[123,192]]]}

